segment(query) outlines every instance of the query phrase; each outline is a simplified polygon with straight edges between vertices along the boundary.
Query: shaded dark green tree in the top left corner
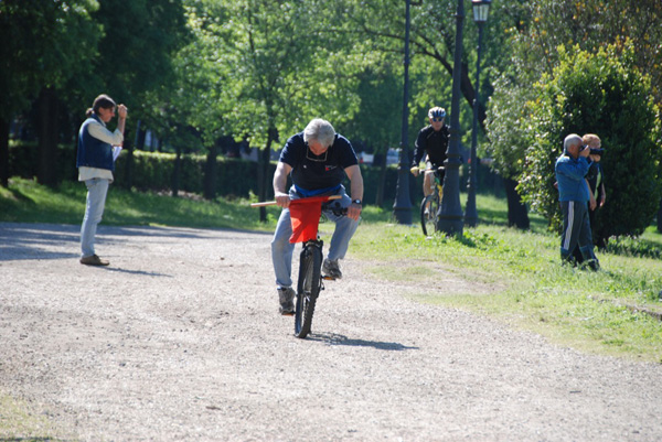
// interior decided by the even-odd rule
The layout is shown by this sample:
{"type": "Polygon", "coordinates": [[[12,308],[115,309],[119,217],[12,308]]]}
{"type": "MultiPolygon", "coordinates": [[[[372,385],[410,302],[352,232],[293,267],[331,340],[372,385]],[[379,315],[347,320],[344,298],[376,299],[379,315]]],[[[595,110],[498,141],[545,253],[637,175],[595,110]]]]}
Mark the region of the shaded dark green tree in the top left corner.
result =
{"type": "Polygon", "coordinates": [[[96,55],[99,26],[90,12],[95,1],[53,0],[0,2],[0,181],[9,181],[9,122],[39,96],[38,177],[54,184],[57,126],[55,90],[86,72],[96,55]]]}

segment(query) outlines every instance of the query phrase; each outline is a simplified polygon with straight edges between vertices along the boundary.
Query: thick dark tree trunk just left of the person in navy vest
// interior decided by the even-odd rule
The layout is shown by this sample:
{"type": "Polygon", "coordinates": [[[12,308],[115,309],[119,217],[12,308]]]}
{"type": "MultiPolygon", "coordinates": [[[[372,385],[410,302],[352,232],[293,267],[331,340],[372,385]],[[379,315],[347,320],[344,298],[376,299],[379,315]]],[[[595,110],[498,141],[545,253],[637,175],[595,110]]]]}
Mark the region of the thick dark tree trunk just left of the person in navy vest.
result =
{"type": "Polygon", "coordinates": [[[36,137],[39,183],[47,186],[57,184],[57,96],[53,88],[43,88],[36,99],[36,137]]]}

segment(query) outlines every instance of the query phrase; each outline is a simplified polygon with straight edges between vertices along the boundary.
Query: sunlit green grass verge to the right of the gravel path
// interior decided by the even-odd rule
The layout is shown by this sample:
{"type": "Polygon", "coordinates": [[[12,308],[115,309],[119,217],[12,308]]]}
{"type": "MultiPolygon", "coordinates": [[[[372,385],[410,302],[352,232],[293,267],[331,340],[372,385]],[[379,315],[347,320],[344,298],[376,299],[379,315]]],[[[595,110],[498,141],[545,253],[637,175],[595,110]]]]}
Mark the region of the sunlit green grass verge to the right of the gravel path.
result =
{"type": "MultiPolygon", "coordinates": [[[[483,203],[493,202],[487,198],[483,203]]],[[[480,197],[478,207],[481,216],[480,197]]],[[[534,224],[542,226],[532,219],[534,224]]],[[[380,260],[375,276],[410,282],[409,295],[420,302],[498,317],[586,352],[662,363],[662,322],[636,311],[662,313],[658,295],[662,290],[662,261],[658,258],[662,246],[660,235],[652,230],[641,239],[628,239],[628,247],[598,252],[602,270],[596,273],[562,266],[558,237],[545,228],[523,233],[483,220],[478,228],[465,228],[460,238],[427,239],[418,227],[381,227],[360,229],[352,244],[353,257],[380,260]],[[638,252],[641,250],[645,254],[638,252]],[[496,290],[488,294],[426,290],[441,277],[439,268],[496,290]]]]}

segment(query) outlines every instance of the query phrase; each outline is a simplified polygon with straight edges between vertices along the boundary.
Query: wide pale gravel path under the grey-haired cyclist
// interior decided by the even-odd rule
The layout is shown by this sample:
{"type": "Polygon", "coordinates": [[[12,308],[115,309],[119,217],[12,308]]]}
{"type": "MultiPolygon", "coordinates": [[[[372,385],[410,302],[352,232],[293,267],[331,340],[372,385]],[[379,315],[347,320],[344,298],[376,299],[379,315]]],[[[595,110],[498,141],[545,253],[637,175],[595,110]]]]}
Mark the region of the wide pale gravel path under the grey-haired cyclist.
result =
{"type": "Polygon", "coordinates": [[[102,226],[89,268],[77,226],[0,224],[0,394],[81,441],[662,439],[661,365],[415,303],[351,251],[297,339],[269,241],[102,226]]]}

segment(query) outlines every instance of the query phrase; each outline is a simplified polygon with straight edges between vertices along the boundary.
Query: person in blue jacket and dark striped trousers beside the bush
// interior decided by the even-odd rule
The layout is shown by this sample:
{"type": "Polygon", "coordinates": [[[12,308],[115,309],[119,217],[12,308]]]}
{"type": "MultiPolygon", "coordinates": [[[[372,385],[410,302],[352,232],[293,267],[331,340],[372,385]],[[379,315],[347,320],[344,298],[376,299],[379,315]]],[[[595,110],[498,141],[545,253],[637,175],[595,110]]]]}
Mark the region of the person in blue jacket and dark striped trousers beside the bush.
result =
{"type": "Polygon", "coordinates": [[[573,261],[576,247],[584,262],[592,270],[600,265],[594,254],[588,202],[590,200],[585,176],[588,172],[587,158],[590,149],[584,145],[581,137],[570,133],[564,140],[564,152],[556,160],[555,172],[558,183],[558,201],[563,213],[563,233],[560,236],[560,259],[573,261]]]}

